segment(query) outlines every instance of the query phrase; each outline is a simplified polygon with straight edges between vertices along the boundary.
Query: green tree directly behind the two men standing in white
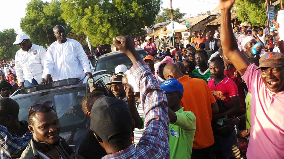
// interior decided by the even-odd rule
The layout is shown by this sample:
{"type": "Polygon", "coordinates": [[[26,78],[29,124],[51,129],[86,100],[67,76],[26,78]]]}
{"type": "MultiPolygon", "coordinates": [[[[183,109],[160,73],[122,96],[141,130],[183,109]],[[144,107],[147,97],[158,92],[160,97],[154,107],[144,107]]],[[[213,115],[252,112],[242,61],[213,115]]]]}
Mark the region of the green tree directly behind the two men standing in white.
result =
{"type": "MultiPolygon", "coordinates": [[[[62,10],[60,9],[60,1],[52,0],[50,3],[41,0],[31,0],[26,8],[26,15],[21,19],[20,27],[23,32],[28,34],[31,42],[48,46],[45,24],[47,24],[47,34],[50,44],[56,41],[53,35],[53,26],[66,26],[64,19],[61,18],[62,10]],[[51,25],[51,26],[50,26],[51,25]]],[[[66,28],[67,31],[69,27],[66,28]]]]}

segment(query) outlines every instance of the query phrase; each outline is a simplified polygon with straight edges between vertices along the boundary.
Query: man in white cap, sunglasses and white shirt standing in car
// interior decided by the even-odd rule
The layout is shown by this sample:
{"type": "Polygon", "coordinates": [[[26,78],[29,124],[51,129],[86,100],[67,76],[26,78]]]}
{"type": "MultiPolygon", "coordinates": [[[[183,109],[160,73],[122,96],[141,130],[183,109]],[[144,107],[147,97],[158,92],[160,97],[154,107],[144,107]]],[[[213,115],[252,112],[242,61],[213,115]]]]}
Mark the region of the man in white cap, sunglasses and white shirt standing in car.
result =
{"type": "Polygon", "coordinates": [[[44,82],[44,57],[46,50],[30,42],[30,37],[24,32],[19,33],[16,41],[20,50],[15,55],[15,69],[18,77],[19,89],[38,85],[44,82]]]}

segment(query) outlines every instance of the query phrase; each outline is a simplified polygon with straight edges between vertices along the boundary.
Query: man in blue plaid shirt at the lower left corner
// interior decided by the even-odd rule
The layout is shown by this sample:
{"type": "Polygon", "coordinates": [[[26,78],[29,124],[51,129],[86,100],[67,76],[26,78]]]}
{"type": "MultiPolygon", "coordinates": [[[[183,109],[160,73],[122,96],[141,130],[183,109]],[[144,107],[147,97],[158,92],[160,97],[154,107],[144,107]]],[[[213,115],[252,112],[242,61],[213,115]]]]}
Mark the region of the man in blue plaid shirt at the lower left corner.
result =
{"type": "Polygon", "coordinates": [[[0,158],[20,158],[30,143],[28,122],[19,121],[19,105],[11,98],[0,99],[0,158]],[[13,134],[13,135],[11,135],[13,134]]]}

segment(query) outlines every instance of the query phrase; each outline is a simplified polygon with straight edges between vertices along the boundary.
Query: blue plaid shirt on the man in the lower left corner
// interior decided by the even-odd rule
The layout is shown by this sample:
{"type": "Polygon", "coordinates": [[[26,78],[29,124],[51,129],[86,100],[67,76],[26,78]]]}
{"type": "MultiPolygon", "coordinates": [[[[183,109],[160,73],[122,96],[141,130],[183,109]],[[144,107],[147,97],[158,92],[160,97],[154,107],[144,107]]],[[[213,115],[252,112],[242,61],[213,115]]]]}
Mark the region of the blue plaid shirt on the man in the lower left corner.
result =
{"type": "MultiPolygon", "coordinates": [[[[10,158],[20,158],[22,152],[30,143],[32,133],[24,135],[22,138],[13,137],[6,127],[0,125],[0,147],[10,158]]],[[[1,153],[2,155],[2,153],[1,153]]],[[[2,158],[2,156],[0,156],[2,158]]]]}

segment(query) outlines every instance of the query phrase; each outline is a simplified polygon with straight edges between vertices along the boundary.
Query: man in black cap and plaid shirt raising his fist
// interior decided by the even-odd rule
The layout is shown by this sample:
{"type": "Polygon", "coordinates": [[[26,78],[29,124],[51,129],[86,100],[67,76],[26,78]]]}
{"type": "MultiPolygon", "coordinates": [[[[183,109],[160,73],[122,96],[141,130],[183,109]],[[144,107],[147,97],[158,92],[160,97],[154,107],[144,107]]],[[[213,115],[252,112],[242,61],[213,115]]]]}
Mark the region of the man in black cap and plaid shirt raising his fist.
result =
{"type": "Polygon", "coordinates": [[[134,148],[131,140],[134,122],[126,103],[112,97],[96,100],[91,110],[92,128],[108,154],[104,158],[169,158],[166,95],[134,49],[130,36],[114,38],[114,45],[133,63],[130,73],[140,89],[145,131],[134,148]]]}

